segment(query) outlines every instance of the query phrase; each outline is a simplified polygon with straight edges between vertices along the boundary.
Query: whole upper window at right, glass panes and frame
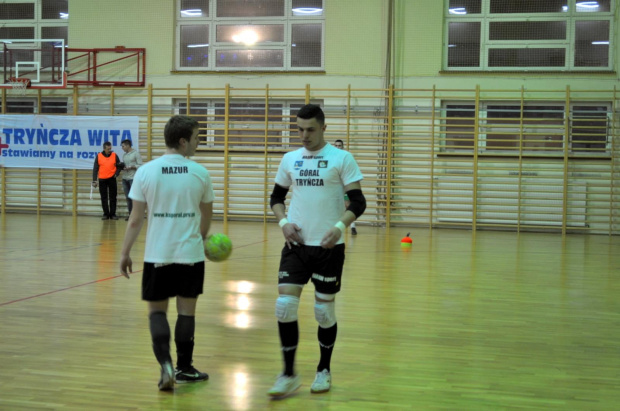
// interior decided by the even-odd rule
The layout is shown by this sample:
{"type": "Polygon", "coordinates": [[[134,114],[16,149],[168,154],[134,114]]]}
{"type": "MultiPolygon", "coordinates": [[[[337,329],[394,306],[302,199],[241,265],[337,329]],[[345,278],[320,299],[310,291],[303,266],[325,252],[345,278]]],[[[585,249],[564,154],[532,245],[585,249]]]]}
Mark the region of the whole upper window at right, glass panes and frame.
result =
{"type": "Polygon", "coordinates": [[[445,2],[445,70],[613,70],[612,0],[445,2]]]}

